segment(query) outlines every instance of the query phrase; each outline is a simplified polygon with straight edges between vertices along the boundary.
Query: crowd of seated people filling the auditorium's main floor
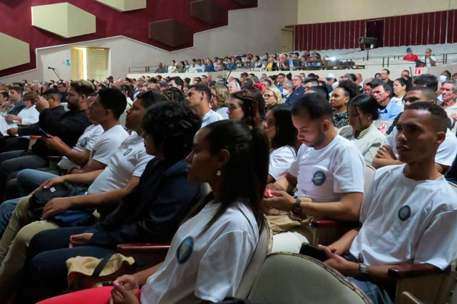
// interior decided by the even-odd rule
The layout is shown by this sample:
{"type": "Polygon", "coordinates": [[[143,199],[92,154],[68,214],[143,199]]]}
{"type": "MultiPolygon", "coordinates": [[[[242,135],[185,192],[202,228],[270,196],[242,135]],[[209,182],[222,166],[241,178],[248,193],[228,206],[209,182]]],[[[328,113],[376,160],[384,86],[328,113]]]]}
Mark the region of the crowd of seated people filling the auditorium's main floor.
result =
{"type": "Polygon", "coordinates": [[[222,301],[264,215],[287,223],[273,252],[310,243],[309,218],[360,223],[318,248],[374,302],[394,300],[393,265],[443,270],[457,258],[457,83],[446,71],[24,80],[0,92],[2,303],[222,301]],[[54,194],[38,208],[43,193],[54,194]],[[170,250],[111,287],[61,295],[70,258],[124,243],[170,250]]]}

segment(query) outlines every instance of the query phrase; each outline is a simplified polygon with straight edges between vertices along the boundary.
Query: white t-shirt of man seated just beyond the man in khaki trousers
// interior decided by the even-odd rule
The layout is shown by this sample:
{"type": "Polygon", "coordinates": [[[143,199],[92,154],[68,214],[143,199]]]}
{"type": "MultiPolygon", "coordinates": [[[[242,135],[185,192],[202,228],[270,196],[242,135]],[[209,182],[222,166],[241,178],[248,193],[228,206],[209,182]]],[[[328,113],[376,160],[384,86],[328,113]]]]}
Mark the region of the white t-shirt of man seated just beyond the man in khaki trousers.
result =
{"type": "Polygon", "coordinates": [[[92,160],[108,165],[111,155],[117,150],[120,143],[128,137],[127,131],[121,125],[116,125],[106,130],[100,135],[99,140],[93,145],[92,153],[89,157],[92,160]]]}

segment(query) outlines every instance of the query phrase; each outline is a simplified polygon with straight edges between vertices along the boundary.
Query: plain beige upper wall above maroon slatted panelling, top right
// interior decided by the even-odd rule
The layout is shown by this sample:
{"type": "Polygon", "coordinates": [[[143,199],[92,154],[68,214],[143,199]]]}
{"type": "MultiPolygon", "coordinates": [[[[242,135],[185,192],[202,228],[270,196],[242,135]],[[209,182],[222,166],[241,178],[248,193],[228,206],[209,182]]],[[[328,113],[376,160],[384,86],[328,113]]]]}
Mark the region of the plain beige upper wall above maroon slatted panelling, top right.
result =
{"type": "Polygon", "coordinates": [[[457,9],[457,0],[298,0],[298,24],[399,16],[457,9]]]}

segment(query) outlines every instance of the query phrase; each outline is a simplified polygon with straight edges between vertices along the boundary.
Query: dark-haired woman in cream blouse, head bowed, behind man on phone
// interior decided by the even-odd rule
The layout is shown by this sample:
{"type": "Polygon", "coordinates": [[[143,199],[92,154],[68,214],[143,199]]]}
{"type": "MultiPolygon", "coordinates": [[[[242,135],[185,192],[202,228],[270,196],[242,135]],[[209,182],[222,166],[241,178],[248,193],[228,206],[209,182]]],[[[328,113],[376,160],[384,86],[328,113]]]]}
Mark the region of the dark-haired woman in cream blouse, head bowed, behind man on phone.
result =
{"type": "Polygon", "coordinates": [[[386,137],[373,124],[378,119],[379,104],[368,94],[361,94],[349,100],[349,126],[340,129],[339,134],[352,141],[362,152],[365,162],[370,164],[386,137]]]}

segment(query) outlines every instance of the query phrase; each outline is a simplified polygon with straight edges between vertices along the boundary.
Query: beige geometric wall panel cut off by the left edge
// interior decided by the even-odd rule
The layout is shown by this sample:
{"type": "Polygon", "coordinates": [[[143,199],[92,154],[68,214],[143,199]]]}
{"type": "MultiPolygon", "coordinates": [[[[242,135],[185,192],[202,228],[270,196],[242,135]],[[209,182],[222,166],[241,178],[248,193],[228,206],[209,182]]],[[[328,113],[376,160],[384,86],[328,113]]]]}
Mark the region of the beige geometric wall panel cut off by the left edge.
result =
{"type": "Polygon", "coordinates": [[[29,63],[29,45],[4,33],[0,33],[0,70],[29,63]]]}

